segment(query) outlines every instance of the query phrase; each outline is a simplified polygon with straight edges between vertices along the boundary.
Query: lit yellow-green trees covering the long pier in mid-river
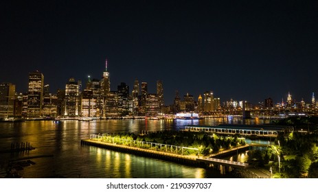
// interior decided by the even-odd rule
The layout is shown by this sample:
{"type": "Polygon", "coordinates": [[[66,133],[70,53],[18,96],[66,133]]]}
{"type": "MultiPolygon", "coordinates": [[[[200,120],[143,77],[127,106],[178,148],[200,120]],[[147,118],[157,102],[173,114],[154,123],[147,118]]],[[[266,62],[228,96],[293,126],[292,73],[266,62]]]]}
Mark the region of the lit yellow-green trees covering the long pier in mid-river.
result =
{"type": "Polygon", "coordinates": [[[201,132],[178,132],[178,131],[161,131],[145,132],[145,134],[134,133],[113,133],[102,134],[95,139],[109,143],[117,143],[140,147],[144,149],[155,149],[166,151],[166,145],[169,150],[183,155],[203,155],[208,156],[219,152],[223,149],[231,149],[245,145],[244,138],[238,136],[227,137],[216,134],[209,135],[201,132]],[[165,145],[164,147],[162,147],[165,145]],[[183,147],[188,147],[185,149],[183,147]]]}

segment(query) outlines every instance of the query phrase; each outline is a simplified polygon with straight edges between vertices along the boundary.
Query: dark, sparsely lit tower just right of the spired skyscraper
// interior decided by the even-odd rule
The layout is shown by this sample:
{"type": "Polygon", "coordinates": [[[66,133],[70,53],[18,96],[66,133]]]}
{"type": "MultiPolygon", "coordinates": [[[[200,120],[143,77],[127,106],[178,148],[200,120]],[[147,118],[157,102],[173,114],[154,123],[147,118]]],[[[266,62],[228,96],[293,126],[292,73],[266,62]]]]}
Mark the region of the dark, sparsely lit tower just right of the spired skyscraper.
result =
{"type": "Polygon", "coordinates": [[[117,86],[118,93],[118,112],[121,116],[128,115],[129,113],[129,86],[122,82],[117,86]]]}

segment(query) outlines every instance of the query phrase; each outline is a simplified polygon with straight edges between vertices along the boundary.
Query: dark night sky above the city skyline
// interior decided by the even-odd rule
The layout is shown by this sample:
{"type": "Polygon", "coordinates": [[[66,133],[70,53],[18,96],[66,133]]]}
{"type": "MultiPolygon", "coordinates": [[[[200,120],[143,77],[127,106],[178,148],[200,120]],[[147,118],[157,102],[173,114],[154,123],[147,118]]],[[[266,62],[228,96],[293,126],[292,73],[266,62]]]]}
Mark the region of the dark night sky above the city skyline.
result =
{"type": "Polygon", "coordinates": [[[69,77],[163,82],[166,105],[213,91],[221,102],[318,98],[318,1],[1,1],[0,82],[26,92],[41,71],[56,93],[69,77]]]}

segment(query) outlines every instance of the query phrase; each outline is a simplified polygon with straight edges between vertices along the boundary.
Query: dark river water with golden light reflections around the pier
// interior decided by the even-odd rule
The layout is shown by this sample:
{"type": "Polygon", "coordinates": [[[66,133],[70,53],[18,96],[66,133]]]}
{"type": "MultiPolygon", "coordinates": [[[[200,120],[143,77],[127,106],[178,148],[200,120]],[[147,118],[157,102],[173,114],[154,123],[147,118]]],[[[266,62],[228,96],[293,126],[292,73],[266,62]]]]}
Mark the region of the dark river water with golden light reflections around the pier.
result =
{"type": "MultiPolygon", "coordinates": [[[[141,132],[179,130],[185,125],[218,125],[220,123],[262,124],[270,120],[200,119],[200,120],[97,120],[97,121],[25,121],[0,123],[0,150],[10,149],[11,143],[36,147],[30,152],[1,153],[3,168],[8,160],[33,158],[35,165],[19,171],[23,178],[224,178],[219,171],[181,165],[155,158],[125,154],[109,149],[80,145],[89,134],[109,132],[141,132]]],[[[2,173],[3,173],[3,169],[2,173]]]]}

